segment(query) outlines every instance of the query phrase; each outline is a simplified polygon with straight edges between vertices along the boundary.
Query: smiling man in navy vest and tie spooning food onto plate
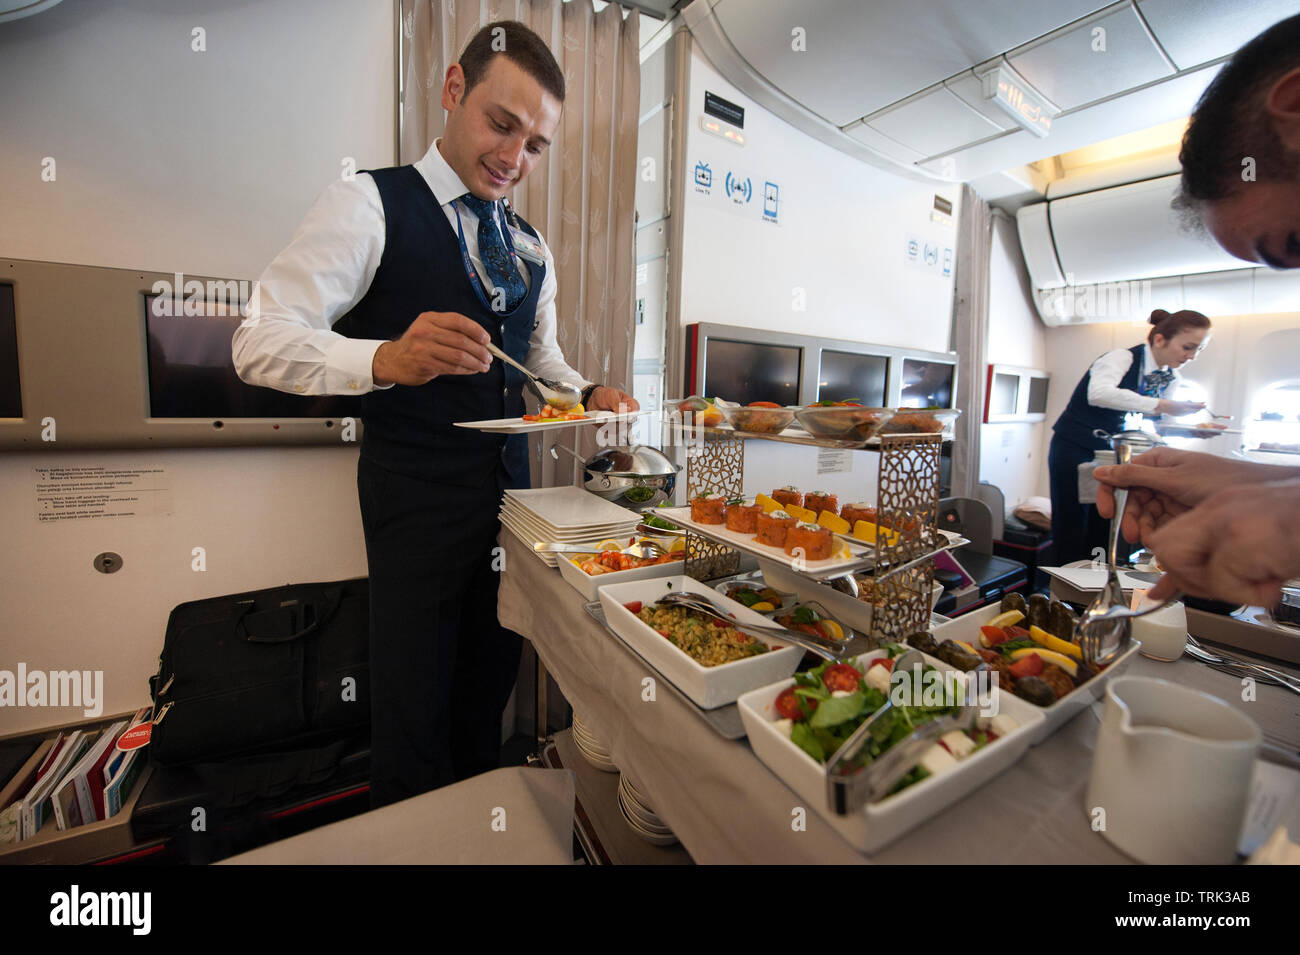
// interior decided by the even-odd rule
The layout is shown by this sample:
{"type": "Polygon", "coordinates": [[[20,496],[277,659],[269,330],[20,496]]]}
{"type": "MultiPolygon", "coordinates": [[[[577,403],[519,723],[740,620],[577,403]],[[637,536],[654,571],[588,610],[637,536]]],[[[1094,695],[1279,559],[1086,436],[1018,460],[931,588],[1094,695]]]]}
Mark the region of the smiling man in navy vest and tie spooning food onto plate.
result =
{"type": "Polygon", "coordinates": [[[494,769],[521,641],[497,621],[500,494],[524,435],[454,427],[524,412],[523,376],[636,408],[555,343],[554,260],[500,201],[559,125],[564,77],[534,32],[490,23],[446,74],[443,136],[415,165],[333,183],[261,275],[235,334],[240,378],[364,394],[358,494],[370,574],[370,804],[494,769]]]}

